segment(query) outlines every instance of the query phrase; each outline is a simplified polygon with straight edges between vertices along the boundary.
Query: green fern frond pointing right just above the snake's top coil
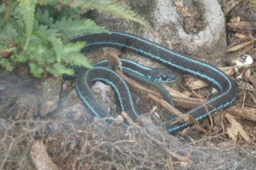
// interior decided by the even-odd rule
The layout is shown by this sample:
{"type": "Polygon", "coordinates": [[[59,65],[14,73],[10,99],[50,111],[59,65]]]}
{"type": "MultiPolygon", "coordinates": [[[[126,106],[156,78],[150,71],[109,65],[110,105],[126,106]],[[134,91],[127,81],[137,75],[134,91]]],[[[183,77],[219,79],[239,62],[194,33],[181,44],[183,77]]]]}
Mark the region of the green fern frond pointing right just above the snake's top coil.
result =
{"type": "Polygon", "coordinates": [[[105,28],[97,26],[97,24],[90,19],[66,19],[65,17],[63,17],[60,21],[55,22],[51,28],[58,30],[64,40],[86,33],[109,32],[105,28]]]}

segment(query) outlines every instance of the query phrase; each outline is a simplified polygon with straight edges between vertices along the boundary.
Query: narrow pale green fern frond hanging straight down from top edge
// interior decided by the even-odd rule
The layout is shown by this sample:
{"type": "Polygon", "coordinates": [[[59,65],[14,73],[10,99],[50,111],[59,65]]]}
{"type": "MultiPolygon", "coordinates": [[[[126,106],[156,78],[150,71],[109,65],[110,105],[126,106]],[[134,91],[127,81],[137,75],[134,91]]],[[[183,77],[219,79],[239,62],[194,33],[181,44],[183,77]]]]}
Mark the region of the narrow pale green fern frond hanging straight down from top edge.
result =
{"type": "Polygon", "coordinates": [[[24,23],[26,25],[26,41],[24,44],[24,51],[26,51],[29,45],[32,31],[33,31],[35,3],[36,3],[36,0],[20,0],[19,1],[19,7],[21,8],[24,23]]]}

